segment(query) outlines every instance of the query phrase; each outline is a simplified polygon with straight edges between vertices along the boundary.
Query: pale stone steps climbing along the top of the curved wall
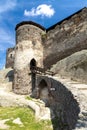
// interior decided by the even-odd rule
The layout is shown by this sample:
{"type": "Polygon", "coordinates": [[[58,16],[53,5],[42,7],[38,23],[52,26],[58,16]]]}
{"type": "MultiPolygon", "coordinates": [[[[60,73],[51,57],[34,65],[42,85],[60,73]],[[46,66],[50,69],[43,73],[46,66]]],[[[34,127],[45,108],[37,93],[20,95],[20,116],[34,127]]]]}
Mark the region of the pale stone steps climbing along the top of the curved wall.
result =
{"type": "Polygon", "coordinates": [[[74,130],[87,130],[87,84],[65,79],[59,75],[55,75],[54,79],[65,85],[79,103],[79,119],[74,130]]]}

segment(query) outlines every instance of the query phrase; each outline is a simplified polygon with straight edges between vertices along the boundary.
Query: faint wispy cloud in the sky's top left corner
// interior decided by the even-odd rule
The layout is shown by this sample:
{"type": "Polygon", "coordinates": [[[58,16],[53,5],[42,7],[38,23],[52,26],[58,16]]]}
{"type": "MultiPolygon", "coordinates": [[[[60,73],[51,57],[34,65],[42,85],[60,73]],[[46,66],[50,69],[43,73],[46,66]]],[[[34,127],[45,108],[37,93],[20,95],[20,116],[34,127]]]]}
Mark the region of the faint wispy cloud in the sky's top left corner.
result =
{"type": "Polygon", "coordinates": [[[12,10],[16,6],[16,0],[3,0],[0,1],[0,13],[12,10]]]}

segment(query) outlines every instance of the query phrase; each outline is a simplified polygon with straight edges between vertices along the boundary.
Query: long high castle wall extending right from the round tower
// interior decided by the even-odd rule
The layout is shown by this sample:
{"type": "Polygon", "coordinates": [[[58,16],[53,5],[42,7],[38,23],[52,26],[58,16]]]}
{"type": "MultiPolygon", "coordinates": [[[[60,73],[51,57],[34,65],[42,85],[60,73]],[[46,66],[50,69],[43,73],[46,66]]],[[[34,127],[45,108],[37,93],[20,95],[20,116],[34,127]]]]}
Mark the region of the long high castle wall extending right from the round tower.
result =
{"type": "Polygon", "coordinates": [[[47,68],[74,52],[87,49],[87,8],[49,28],[44,39],[47,68]]]}

